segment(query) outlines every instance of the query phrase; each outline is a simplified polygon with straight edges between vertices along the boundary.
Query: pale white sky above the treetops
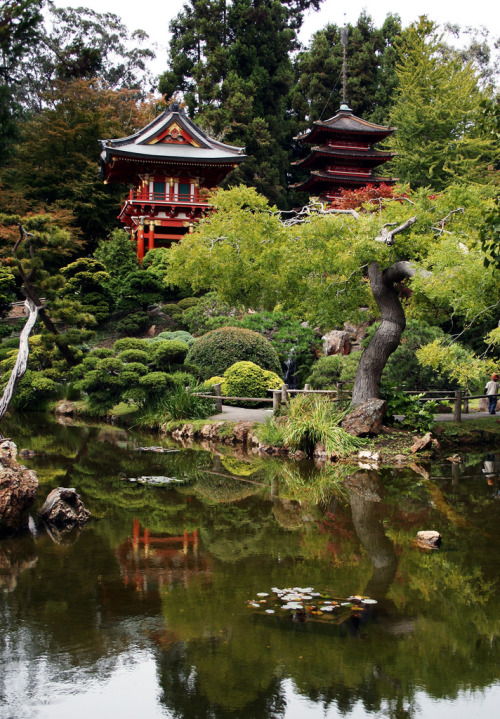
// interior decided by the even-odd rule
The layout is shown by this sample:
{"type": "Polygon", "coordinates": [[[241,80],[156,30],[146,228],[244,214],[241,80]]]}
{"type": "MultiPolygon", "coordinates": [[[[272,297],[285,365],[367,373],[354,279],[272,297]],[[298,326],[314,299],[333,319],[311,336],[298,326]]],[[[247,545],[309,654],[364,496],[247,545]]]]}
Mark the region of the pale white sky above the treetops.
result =
{"type": "MultiPolygon", "coordinates": [[[[168,25],[182,9],[185,0],[55,0],[58,7],[89,7],[99,12],[113,12],[129,30],[145,30],[157,44],[154,71],[166,69],[168,25]]],[[[337,25],[354,24],[365,9],[379,26],[388,13],[399,14],[403,25],[409,25],[420,15],[439,24],[451,22],[462,26],[485,26],[493,35],[500,35],[500,3],[495,0],[414,0],[403,3],[395,0],[323,0],[319,12],[306,14],[300,40],[307,45],[312,34],[328,22],[337,25]],[[345,13],[345,15],[344,15],[345,13]]]]}

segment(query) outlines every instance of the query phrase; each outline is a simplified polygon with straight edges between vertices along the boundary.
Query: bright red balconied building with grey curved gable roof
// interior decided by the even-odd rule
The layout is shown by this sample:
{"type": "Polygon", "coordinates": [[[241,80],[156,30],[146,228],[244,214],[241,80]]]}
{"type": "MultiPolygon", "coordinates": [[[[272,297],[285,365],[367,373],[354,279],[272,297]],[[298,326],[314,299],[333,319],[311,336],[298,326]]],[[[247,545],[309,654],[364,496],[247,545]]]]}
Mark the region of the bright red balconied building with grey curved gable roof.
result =
{"type": "Polygon", "coordinates": [[[245,159],[244,148],[208,137],[178,104],[130,137],[99,140],[105,183],[131,185],[118,218],[137,241],[137,256],[169,247],[213,207],[207,201],[226,175],[245,159]],[[146,250],[146,251],[147,251],[146,250]]]}

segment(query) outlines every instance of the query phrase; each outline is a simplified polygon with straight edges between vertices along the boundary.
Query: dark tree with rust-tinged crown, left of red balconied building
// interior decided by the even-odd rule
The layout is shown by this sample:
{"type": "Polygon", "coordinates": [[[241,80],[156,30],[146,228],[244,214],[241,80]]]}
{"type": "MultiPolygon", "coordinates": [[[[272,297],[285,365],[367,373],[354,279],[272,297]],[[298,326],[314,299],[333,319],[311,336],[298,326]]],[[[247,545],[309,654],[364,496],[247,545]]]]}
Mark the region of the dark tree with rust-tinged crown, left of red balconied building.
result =
{"type": "Polygon", "coordinates": [[[22,141],[1,175],[4,191],[17,192],[31,211],[71,209],[93,249],[116,226],[123,193],[98,177],[98,140],[143,127],[155,105],[99,80],[58,81],[44,97],[50,107],[23,124],[22,141]]]}

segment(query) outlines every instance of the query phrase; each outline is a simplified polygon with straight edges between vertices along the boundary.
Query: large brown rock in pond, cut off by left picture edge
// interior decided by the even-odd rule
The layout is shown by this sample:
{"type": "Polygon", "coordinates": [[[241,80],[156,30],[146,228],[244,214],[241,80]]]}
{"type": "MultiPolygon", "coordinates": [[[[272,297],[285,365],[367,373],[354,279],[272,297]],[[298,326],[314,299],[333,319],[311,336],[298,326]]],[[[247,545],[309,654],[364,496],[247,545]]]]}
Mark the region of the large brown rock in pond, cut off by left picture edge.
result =
{"type": "Polygon", "coordinates": [[[16,462],[17,447],[0,443],[0,530],[28,526],[28,510],[35,501],[38,477],[16,462]]]}

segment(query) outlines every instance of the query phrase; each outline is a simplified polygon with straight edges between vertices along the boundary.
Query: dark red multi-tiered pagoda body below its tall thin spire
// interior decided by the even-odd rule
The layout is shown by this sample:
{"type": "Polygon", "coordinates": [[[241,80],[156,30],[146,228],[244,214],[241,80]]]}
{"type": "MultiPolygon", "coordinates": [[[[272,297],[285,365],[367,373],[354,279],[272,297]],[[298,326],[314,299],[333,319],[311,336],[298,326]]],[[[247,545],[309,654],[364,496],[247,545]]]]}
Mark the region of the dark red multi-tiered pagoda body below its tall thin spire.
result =
{"type": "Polygon", "coordinates": [[[342,189],[354,190],[365,185],[392,185],[394,177],[379,177],[376,167],[394,154],[373,149],[373,145],[391,135],[395,127],[374,125],[353,115],[345,104],[329,120],[313,122],[311,130],[295,139],[310,145],[309,153],[292,163],[297,169],[309,171],[309,177],[292,187],[300,192],[329,201],[342,189]]]}

